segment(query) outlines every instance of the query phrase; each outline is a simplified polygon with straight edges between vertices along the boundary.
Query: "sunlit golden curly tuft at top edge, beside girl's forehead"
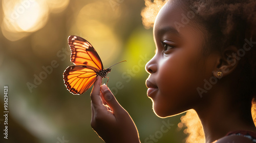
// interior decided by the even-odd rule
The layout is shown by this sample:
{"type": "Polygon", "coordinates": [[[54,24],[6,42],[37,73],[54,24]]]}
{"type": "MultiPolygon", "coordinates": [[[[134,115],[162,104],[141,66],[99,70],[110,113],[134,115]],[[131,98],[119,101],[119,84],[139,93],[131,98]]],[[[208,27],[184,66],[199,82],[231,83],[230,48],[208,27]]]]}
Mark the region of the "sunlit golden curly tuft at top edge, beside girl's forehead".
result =
{"type": "Polygon", "coordinates": [[[141,11],[142,23],[146,29],[153,27],[157,13],[166,3],[166,0],[144,0],[145,8],[141,11]]]}

